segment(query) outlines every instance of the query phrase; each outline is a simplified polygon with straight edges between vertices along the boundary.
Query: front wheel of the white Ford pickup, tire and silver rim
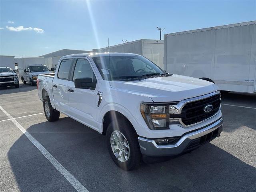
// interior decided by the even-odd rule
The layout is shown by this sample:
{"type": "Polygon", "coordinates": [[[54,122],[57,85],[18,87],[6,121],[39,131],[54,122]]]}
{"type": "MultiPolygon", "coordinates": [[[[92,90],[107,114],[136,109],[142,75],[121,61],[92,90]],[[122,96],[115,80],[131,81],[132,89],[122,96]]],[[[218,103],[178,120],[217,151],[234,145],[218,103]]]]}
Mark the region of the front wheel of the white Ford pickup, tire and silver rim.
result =
{"type": "Polygon", "coordinates": [[[123,170],[140,166],[142,155],[135,130],[126,120],[114,120],[108,126],[107,147],[112,160],[123,170]]]}

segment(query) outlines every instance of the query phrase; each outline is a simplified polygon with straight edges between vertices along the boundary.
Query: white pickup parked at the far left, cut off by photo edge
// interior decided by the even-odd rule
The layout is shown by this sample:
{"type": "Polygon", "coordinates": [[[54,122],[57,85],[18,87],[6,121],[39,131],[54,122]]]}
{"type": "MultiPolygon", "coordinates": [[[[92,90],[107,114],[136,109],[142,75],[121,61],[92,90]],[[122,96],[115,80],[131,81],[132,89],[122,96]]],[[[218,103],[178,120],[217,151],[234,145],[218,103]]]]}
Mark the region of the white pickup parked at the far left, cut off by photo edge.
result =
{"type": "Polygon", "coordinates": [[[0,86],[15,86],[19,88],[19,78],[18,75],[10,67],[0,67],[0,86]]]}

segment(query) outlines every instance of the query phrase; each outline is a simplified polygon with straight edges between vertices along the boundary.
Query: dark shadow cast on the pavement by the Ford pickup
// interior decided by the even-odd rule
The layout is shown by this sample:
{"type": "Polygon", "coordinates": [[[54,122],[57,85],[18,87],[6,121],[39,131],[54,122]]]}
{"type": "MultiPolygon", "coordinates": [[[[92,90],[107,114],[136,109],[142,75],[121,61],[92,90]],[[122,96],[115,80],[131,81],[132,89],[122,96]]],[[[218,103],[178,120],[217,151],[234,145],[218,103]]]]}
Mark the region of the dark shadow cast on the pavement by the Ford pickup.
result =
{"type": "MultiPolygon", "coordinates": [[[[27,131],[88,191],[256,190],[256,169],[211,143],[126,172],[110,158],[105,136],[71,118],[34,124],[27,131]]],[[[8,159],[21,191],[74,191],[24,135],[10,148],[8,159]]]]}

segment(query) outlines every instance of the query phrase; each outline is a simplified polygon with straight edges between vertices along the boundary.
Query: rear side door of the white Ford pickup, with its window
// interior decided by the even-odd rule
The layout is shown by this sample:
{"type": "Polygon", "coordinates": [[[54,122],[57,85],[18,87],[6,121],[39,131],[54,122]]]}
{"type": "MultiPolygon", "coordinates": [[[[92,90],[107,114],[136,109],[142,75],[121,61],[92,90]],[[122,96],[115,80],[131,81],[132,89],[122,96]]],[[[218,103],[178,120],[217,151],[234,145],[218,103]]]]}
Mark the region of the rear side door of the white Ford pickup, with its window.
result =
{"type": "Polygon", "coordinates": [[[52,81],[52,92],[54,96],[54,105],[60,112],[68,114],[68,82],[70,78],[71,68],[74,59],[63,59],[60,63],[57,75],[52,81]]]}

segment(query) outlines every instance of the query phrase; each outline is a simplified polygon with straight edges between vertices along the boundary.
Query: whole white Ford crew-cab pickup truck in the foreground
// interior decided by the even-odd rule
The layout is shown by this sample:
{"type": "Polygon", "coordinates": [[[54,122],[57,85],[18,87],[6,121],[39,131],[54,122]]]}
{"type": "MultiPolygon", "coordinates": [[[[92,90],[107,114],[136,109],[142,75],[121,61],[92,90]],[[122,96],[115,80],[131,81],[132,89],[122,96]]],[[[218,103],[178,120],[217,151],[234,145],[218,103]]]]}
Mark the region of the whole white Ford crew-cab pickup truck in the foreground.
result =
{"type": "Polygon", "coordinates": [[[124,170],[146,156],[183,154],[222,131],[221,95],[208,81],[166,74],[137,54],[73,54],[55,74],[38,75],[46,119],[60,112],[107,136],[124,170]]]}

